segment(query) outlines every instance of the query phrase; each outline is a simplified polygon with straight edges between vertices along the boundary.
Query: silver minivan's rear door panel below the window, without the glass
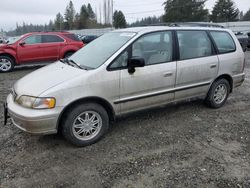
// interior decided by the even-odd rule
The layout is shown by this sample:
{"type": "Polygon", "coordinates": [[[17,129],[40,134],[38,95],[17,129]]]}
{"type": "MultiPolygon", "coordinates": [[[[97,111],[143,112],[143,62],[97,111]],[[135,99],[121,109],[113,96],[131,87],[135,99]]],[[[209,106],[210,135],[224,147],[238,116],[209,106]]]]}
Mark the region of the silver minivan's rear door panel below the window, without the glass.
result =
{"type": "Polygon", "coordinates": [[[177,61],[175,99],[206,95],[218,74],[218,57],[209,56],[177,61]],[[178,91],[178,88],[185,87],[178,91]]]}

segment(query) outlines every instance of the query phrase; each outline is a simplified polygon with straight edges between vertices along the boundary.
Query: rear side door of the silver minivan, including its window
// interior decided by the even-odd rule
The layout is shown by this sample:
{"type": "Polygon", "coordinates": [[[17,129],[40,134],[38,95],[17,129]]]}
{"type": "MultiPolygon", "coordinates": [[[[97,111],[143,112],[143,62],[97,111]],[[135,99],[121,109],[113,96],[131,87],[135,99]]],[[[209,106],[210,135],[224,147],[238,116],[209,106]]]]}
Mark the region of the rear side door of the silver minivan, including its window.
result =
{"type": "Polygon", "coordinates": [[[218,74],[218,57],[206,31],[178,30],[175,99],[202,96],[218,74]]]}

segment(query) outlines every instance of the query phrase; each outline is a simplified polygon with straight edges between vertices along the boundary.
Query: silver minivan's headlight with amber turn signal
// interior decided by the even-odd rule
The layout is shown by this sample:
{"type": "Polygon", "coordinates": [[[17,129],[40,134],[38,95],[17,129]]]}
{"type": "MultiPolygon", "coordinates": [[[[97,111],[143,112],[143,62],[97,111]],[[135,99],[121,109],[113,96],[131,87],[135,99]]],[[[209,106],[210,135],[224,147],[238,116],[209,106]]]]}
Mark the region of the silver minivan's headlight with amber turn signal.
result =
{"type": "Polygon", "coordinates": [[[17,100],[17,103],[26,108],[51,109],[55,107],[56,99],[52,97],[39,98],[39,97],[22,95],[17,100]]]}

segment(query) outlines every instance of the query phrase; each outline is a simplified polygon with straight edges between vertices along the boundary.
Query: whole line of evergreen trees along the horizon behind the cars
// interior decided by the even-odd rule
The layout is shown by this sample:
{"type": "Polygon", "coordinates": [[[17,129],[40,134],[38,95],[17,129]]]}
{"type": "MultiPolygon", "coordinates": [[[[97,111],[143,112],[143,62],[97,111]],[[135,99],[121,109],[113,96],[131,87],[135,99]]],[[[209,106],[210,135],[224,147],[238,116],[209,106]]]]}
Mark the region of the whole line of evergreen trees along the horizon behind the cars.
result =
{"type": "MultiPolygon", "coordinates": [[[[162,22],[230,22],[230,21],[250,21],[250,8],[243,14],[233,0],[217,0],[209,13],[205,8],[207,0],[166,0],[163,4],[164,15],[156,17],[150,16],[128,24],[122,11],[116,10],[113,14],[113,27],[124,28],[142,25],[151,25],[162,22]]],[[[97,21],[96,13],[93,11],[91,4],[83,4],[79,12],[76,12],[73,2],[70,1],[66,7],[64,15],[60,12],[49,24],[16,25],[14,31],[7,33],[9,36],[21,35],[34,31],[62,31],[86,28],[103,28],[111,27],[112,15],[110,15],[110,0],[104,0],[104,23],[97,21]],[[107,1],[107,2],[106,2],[107,1]],[[108,12],[108,14],[107,14],[108,12]]]]}

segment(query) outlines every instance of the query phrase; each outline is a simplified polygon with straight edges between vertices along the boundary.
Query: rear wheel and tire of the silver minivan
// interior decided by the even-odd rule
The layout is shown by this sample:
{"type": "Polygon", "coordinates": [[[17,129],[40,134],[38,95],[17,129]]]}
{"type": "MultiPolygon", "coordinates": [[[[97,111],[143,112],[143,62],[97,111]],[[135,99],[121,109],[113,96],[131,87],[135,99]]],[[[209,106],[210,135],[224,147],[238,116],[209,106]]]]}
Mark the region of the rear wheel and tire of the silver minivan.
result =
{"type": "Polygon", "coordinates": [[[226,103],[229,93],[229,82],[226,79],[217,80],[212,84],[205,102],[211,108],[220,108],[226,103]]]}

